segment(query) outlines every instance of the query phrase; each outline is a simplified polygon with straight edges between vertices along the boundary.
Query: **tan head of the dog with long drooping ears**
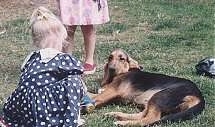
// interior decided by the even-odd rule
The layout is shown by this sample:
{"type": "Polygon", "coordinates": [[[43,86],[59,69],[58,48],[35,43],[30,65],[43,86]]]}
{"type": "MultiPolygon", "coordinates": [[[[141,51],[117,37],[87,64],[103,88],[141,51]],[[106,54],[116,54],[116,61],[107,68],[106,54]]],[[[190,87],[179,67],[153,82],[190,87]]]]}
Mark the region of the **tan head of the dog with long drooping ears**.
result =
{"type": "Polygon", "coordinates": [[[108,57],[104,67],[104,77],[101,85],[104,86],[112,82],[113,78],[119,74],[126,73],[133,69],[142,69],[138,62],[132,59],[121,49],[114,50],[108,57]]]}

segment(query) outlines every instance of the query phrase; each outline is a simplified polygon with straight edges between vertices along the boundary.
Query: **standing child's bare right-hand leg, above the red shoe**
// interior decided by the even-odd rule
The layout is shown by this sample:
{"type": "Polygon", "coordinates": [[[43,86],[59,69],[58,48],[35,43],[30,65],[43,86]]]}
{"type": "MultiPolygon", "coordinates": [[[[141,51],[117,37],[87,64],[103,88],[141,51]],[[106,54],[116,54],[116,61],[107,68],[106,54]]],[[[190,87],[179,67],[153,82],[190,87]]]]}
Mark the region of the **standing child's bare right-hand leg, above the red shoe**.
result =
{"type": "Polygon", "coordinates": [[[94,64],[94,50],[96,44],[96,31],[93,25],[83,25],[81,30],[84,36],[85,45],[85,63],[94,64]]]}

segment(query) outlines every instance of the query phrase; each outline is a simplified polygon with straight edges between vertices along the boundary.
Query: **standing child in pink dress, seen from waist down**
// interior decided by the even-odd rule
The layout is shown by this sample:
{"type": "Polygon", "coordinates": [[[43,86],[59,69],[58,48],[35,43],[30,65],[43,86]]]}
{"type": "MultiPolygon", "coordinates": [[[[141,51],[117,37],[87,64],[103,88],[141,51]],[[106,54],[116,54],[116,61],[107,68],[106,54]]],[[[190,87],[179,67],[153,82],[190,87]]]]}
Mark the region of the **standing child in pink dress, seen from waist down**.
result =
{"type": "Polygon", "coordinates": [[[64,45],[63,52],[69,52],[74,41],[77,26],[84,36],[85,61],[84,74],[93,74],[96,70],[94,50],[96,43],[96,24],[109,21],[107,0],[57,0],[63,24],[67,27],[70,42],[64,45]]]}

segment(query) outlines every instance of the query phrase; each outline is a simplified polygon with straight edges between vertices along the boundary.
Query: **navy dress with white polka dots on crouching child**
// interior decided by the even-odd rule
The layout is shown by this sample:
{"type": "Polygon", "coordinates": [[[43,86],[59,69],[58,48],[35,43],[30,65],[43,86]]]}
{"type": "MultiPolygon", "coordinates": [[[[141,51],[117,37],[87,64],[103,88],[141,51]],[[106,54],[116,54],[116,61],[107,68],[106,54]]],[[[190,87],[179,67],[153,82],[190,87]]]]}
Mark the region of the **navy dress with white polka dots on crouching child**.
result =
{"type": "Polygon", "coordinates": [[[18,87],[4,105],[11,127],[76,127],[83,96],[80,62],[59,53],[47,63],[40,52],[26,62],[18,87]]]}

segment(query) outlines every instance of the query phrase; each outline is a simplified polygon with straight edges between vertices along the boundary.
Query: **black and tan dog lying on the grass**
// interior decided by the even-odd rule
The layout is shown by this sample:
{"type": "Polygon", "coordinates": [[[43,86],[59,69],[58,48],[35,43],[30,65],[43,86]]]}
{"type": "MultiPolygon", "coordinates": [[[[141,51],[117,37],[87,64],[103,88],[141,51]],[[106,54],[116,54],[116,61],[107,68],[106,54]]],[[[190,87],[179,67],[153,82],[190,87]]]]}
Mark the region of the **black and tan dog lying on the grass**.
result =
{"type": "Polygon", "coordinates": [[[114,100],[126,100],[143,107],[136,114],[109,112],[117,125],[152,125],[163,121],[190,119],[201,113],[205,101],[190,80],[140,70],[124,51],[111,53],[105,66],[103,91],[94,97],[96,107],[114,100]]]}

